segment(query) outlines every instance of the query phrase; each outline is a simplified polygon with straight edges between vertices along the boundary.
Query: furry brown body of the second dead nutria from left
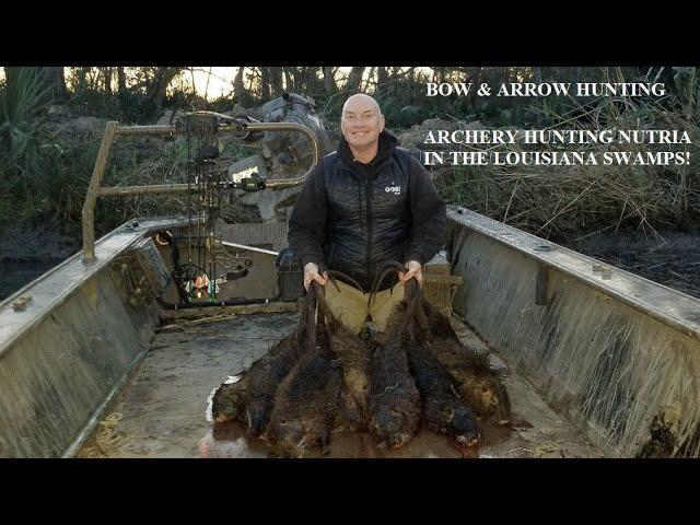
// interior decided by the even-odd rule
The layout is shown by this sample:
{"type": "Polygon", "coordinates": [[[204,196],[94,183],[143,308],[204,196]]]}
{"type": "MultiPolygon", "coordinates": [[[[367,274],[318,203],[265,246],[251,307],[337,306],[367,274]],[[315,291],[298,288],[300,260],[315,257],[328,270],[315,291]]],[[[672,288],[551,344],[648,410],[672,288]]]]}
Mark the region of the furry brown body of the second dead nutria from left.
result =
{"type": "Polygon", "coordinates": [[[275,397],[266,432],[271,455],[303,457],[314,446],[328,453],[341,382],[340,368],[326,349],[319,346],[304,353],[275,397]]]}

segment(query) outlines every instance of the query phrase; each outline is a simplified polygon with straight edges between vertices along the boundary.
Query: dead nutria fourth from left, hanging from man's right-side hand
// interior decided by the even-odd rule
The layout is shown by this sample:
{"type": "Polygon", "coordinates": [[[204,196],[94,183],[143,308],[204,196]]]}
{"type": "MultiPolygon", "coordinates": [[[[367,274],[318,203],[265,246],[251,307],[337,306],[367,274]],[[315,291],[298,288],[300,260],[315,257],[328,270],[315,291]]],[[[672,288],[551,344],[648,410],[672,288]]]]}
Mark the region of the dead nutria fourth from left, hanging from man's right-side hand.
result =
{"type": "Polygon", "coordinates": [[[380,345],[370,365],[370,430],[381,446],[392,448],[412,439],[421,415],[420,394],[406,357],[410,343],[408,324],[418,299],[409,292],[413,289],[410,282],[415,279],[406,284],[406,294],[387,322],[385,337],[377,339],[380,345]]]}

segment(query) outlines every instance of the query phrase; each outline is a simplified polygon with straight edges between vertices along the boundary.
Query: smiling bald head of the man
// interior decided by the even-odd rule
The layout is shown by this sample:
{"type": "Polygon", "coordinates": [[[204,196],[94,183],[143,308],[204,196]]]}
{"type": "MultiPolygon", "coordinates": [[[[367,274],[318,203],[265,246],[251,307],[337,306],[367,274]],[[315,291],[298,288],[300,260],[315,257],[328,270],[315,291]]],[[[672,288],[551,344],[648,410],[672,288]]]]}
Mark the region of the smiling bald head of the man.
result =
{"type": "Polygon", "coordinates": [[[384,116],[380,105],[369,95],[352,95],[342,106],[340,129],[354,150],[376,147],[380,133],[384,131],[384,116]]]}

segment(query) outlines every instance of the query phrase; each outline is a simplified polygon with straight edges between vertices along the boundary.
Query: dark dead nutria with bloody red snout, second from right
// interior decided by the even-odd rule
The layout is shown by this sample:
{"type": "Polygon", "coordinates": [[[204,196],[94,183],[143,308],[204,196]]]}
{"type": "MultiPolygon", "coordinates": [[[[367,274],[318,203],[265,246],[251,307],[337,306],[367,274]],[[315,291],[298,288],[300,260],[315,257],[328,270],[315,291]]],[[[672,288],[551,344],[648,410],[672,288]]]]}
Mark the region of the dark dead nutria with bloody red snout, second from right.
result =
{"type": "Polygon", "coordinates": [[[456,394],[448,372],[433,358],[428,340],[408,347],[408,364],[423,405],[427,427],[447,434],[455,445],[472,446],[478,441],[474,413],[456,394]]]}

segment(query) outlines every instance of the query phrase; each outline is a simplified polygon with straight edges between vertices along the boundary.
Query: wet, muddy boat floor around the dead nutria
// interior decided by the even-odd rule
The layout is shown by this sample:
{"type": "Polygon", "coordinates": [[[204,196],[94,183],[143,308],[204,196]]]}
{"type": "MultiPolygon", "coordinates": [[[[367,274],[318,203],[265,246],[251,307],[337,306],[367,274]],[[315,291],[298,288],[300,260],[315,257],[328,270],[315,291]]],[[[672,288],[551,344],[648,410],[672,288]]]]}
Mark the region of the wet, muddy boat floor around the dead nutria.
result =
{"type": "MultiPolygon", "coordinates": [[[[247,440],[236,423],[213,423],[208,404],[214,388],[289,334],[296,316],[295,312],[258,313],[161,329],[77,456],[266,457],[265,443],[247,440]]],[[[453,324],[463,341],[483,345],[459,320],[453,318],[453,324]]],[[[369,434],[346,432],[334,435],[325,457],[603,457],[523,377],[511,373],[505,386],[514,428],[482,428],[478,451],[464,454],[445,436],[428,430],[401,450],[380,451],[369,434]]]]}

